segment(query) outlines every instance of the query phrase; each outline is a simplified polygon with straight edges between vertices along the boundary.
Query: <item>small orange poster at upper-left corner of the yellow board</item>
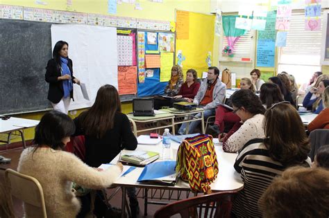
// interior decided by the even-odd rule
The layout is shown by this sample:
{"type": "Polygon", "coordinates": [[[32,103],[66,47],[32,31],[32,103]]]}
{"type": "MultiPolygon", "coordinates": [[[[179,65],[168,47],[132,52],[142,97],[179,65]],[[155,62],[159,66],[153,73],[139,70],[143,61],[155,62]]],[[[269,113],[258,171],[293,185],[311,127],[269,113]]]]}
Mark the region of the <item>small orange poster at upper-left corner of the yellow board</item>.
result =
{"type": "Polygon", "coordinates": [[[189,39],[189,12],[176,10],[177,39],[189,39]]]}

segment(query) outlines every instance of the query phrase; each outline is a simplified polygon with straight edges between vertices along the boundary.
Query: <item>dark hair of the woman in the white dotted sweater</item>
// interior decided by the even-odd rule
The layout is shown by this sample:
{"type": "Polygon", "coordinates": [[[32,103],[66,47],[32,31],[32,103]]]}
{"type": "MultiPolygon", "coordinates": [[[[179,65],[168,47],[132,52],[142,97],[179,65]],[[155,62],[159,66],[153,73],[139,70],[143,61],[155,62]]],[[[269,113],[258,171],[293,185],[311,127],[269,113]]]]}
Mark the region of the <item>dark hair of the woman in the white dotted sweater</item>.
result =
{"type": "Polygon", "coordinates": [[[253,93],[250,89],[240,89],[235,91],[230,97],[232,105],[237,108],[244,107],[246,111],[252,114],[264,114],[265,109],[260,102],[260,98],[253,93]]]}

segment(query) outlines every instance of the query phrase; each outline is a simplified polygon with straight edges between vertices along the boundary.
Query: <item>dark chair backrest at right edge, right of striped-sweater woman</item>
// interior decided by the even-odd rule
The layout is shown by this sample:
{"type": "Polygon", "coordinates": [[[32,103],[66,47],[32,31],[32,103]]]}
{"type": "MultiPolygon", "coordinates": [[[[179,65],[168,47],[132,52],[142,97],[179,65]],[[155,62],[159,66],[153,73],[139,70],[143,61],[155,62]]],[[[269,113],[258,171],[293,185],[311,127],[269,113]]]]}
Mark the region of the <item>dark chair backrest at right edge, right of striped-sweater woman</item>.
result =
{"type": "Polygon", "coordinates": [[[315,129],[310,133],[311,151],[308,156],[314,161],[317,150],[322,145],[329,145],[329,129],[315,129]]]}

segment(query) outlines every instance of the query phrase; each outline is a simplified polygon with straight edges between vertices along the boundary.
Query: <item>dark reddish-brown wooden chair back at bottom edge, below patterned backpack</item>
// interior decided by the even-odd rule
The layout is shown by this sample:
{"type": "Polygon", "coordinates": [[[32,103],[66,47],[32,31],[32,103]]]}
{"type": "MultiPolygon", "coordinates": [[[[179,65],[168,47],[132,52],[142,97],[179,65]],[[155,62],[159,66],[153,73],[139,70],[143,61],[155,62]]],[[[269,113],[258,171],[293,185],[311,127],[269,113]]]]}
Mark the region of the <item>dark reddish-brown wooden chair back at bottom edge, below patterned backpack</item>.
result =
{"type": "Polygon", "coordinates": [[[154,218],[180,214],[185,217],[230,217],[237,192],[217,192],[169,203],[155,212],[154,218]]]}

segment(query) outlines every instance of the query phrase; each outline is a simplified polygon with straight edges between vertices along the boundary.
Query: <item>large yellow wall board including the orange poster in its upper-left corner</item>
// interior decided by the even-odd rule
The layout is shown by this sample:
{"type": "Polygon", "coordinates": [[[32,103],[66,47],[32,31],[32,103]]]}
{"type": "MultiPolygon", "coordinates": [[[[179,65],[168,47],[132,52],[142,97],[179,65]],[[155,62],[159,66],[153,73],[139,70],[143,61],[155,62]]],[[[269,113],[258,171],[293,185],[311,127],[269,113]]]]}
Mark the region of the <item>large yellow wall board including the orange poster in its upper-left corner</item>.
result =
{"type": "Polygon", "coordinates": [[[212,63],[214,47],[214,15],[176,10],[176,63],[195,69],[201,78],[212,63]]]}

